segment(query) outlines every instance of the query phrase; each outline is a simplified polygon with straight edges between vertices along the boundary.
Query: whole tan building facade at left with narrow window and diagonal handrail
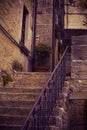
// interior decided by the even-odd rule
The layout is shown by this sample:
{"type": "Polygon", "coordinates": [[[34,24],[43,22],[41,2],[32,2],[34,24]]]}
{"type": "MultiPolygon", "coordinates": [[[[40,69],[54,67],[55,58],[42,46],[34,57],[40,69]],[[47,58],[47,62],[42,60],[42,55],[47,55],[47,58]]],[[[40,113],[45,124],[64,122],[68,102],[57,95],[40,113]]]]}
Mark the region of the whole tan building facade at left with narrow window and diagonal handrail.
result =
{"type": "Polygon", "coordinates": [[[31,68],[33,2],[0,1],[0,70],[31,68]]]}

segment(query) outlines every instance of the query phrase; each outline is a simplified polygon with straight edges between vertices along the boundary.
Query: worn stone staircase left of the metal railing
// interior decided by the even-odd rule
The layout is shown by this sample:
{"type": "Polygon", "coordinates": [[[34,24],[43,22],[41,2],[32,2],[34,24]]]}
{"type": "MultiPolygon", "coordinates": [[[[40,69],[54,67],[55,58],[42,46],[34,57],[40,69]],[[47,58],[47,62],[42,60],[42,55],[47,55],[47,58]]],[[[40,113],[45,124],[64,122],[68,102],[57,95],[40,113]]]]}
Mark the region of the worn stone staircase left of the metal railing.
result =
{"type": "Polygon", "coordinates": [[[18,72],[0,87],[0,130],[20,130],[45,82],[47,72],[18,72]]]}

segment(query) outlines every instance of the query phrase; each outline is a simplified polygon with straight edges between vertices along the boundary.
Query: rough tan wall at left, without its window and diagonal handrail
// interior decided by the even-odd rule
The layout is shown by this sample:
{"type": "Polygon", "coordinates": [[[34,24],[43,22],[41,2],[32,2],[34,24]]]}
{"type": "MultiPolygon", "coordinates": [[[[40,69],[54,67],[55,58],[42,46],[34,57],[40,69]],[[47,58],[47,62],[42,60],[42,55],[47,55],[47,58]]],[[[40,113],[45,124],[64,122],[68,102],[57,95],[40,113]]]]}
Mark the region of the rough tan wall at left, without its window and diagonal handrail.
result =
{"type": "MultiPolygon", "coordinates": [[[[33,3],[31,0],[1,0],[0,24],[9,32],[18,44],[20,44],[24,5],[29,12],[26,21],[25,46],[31,51],[33,12],[33,3]]],[[[12,43],[2,31],[0,31],[0,46],[0,69],[11,71],[12,62],[17,60],[22,64],[23,71],[28,71],[28,57],[12,43]]]]}

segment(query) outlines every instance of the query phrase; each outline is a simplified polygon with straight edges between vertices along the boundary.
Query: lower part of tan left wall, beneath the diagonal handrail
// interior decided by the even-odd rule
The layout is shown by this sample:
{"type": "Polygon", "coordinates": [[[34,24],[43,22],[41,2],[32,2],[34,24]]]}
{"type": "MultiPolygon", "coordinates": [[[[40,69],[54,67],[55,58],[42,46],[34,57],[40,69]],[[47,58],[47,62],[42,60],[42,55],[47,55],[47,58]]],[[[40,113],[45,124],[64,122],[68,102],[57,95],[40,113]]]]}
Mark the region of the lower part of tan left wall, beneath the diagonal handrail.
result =
{"type": "Polygon", "coordinates": [[[12,72],[13,61],[19,61],[22,64],[23,71],[28,70],[28,58],[20,52],[4,34],[0,31],[0,69],[12,72]]]}

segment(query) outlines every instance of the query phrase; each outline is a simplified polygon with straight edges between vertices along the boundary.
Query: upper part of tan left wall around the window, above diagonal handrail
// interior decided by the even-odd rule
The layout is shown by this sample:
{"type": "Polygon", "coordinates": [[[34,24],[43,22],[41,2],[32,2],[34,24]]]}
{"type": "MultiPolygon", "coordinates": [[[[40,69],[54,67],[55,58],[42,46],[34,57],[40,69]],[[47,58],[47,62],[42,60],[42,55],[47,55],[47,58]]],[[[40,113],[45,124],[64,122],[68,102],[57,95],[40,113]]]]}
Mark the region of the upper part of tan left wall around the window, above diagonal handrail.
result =
{"type": "Polygon", "coordinates": [[[21,29],[22,29],[22,16],[23,6],[26,6],[29,16],[27,18],[28,24],[26,25],[26,41],[25,45],[29,48],[32,40],[32,5],[29,0],[23,0],[21,3],[19,0],[1,0],[0,1],[0,24],[13,36],[13,38],[19,43],[21,41],[21,29]]]}

